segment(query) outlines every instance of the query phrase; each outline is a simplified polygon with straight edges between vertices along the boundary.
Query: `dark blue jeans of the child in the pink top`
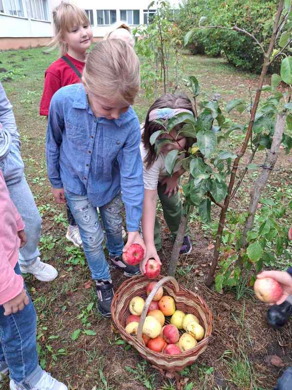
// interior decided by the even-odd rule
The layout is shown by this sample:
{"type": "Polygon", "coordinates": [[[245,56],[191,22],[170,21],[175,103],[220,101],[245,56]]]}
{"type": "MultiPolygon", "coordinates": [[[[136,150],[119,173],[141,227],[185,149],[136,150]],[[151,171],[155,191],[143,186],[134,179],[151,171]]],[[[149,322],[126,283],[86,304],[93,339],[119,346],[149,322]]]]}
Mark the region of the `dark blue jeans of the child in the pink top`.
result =
{"type": "MultiPolygon", "coordinates": [[[[20,274],[18,263],[14,271],[20,274]]],[[[37,357],[37,315],[30,296],[29,304],[15,314],[5,316],[0,305],[0,369],[7,366],[10,378],[23,389],[36,386],[43,373],[37,357]]]]}

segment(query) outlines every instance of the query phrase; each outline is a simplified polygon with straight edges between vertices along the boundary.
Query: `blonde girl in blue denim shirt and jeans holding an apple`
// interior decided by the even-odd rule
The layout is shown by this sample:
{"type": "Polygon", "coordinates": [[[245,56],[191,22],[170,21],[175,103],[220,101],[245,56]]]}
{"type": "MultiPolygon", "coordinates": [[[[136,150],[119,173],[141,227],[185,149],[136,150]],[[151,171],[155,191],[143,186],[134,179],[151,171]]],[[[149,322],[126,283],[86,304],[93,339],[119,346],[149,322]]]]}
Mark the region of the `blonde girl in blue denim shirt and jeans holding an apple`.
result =
{"type": "Polygon", "coordinates": [[[67,200],[78,224],[103,316],[110,316],[113,289],[96,207],[111,267],[126,276],[139,273],[121,256],[121,190],[128,228],[124,251],[134,242],[145,248],[138,232],[144,193],[140,124],[130,106],[139,89],[133,49],[121,39],[102,40],[88,55],[82,84],[57,91],[49,112],[46,151],[53,195],[57,203],[67,200]]]}

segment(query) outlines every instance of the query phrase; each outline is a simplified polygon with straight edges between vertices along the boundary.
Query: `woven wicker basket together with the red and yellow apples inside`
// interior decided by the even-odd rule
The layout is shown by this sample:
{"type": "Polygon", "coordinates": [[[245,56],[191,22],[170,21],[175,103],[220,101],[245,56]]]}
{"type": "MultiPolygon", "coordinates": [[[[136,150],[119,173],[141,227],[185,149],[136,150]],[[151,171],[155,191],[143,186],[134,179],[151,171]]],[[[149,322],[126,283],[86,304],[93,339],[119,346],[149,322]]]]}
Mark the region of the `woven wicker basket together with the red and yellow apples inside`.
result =
{"type": "Polygon", "coordinates": [[[213,316],[203,299],[171,276],[135,276],[116,291],[111,317],[122,338],[155,368],[181,371],[205,351],[213,316]]]}

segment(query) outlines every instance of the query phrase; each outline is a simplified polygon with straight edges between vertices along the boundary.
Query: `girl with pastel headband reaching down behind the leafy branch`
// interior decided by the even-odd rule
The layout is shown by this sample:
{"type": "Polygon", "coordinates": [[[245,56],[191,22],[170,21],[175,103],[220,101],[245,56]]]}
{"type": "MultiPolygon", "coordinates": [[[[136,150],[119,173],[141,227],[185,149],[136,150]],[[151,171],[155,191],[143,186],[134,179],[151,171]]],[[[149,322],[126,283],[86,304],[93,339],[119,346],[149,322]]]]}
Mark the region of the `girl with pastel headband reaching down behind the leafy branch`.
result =
{"type": "MultiPolygon", "coordinates": [[[[179,151],[188,150],[194,142],[192,138],[178,136],[174,129],[169,135],[162,135],[160,138],[172,139],[172,143],[164,145],[161,153],[157,156],[154,145],[150,144],[151,135],[162,130],[163,127],[155,122],[156,119],[170,119],[180,112],[193,113],[191,101],[186,95],[166,94],[157,99],[146,115],[144,125],[143,142],[140,146],[143,160],[143,178],[144,178],[144,203],[142,217],[142,231],[145,245],[147,248],[146,257],[142,262],[142,271],[145,273],[145,264],[151,257],[160,262],[157,251],[161,249],[160,225],[156,216],[157,194],[160,198],[165,221],[171,231],[173,238],[179,229],[182,203],[179,196],[179,179],[184,170],[180,166],[175,167],[174,174],[169,177],[165,170],[165,156],[173,149],[179,151]],[[175,138],[177,137],[177,140],[175,138]]],[[[179,126],[181,127],[181,126],[179,126]]],[[[178,129],[177,129],[178,130],[178,129]]],[[[183,154],[180,155],[183,157],[183,154]]],[[[179,165],[179,164],[178,164],[179,165]]],[[[187,227],[183,238],[181,254],[189,254],[192,250],[189,238],[189,229],[187,227]]]]}

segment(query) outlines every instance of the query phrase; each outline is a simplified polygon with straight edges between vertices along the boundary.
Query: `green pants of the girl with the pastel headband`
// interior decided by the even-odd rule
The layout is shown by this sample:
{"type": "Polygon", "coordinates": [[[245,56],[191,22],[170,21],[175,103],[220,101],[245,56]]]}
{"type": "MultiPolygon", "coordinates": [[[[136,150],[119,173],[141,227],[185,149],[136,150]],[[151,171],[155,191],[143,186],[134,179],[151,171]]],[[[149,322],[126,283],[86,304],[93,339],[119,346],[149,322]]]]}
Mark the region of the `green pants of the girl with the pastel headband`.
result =
{"type": "MultiPolygon", "coordinates": [[[[167,195],[164,195],[165,189],[166,189],[166,184],[164,186],[161,186],[160,183],[158,183],[157,193],[161,201],[164,219],[167,226],[169,227],[172,237],[175,239],[181,222],[183,206],[182,206],[179,193],[167,197],[167,195]]],[[[185,235],[189,235],[189,233],[190,233],[189,228],[187,226],[185,235]]],[[[155,227],[154,227],[154,244],[157,251],[161,250],[162,246],[161,246],[160,224],[157,215],[155,218],[155,227]]]]}

